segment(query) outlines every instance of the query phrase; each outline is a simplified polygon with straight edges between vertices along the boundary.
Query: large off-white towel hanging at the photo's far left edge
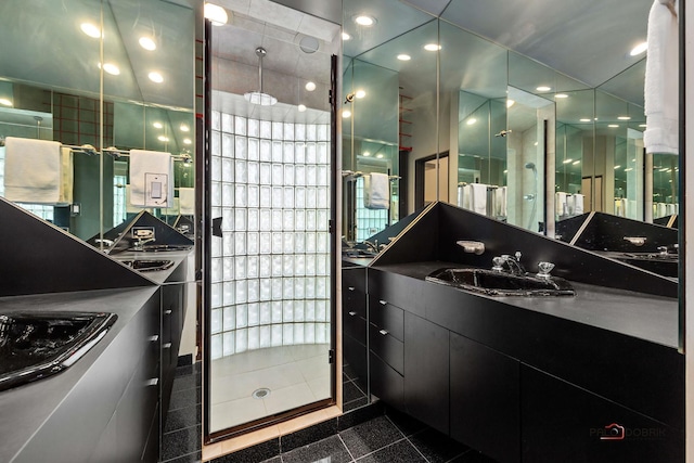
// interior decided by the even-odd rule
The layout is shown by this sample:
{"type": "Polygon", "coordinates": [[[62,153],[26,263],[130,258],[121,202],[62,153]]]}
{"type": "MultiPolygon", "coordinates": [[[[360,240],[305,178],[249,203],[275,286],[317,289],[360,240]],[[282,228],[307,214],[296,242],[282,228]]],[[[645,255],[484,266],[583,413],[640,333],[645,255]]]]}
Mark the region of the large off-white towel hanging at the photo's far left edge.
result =
{"type": "Polygon", "coordinates": [[[8,137],[4,140],[4,196],[31,204],[57,204],[61,195],[61,144],[8,137]]]}

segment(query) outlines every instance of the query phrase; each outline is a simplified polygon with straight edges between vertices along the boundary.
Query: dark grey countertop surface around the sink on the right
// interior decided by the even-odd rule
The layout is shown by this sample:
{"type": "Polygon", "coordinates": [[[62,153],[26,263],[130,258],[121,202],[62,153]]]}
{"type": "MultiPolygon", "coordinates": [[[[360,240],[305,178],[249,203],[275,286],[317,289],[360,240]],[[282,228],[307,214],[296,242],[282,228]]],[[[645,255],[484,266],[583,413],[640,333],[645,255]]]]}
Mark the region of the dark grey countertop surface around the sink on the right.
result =
{"type": "MultiPolygon", "coordinates": [[[[445,261],[425,261],[387,266],[376,265],[374,268],[424,280],[427,274],[441,268],[465,267],[460,263],[445,261]]],[[[678,347],[679,305],[677,299],[583,283],[571,282],[571,284],[576,290],[576,296],[574,297],[498,297],[458,288],[449,290],[609,330],[667,347],[678,347]]]]}

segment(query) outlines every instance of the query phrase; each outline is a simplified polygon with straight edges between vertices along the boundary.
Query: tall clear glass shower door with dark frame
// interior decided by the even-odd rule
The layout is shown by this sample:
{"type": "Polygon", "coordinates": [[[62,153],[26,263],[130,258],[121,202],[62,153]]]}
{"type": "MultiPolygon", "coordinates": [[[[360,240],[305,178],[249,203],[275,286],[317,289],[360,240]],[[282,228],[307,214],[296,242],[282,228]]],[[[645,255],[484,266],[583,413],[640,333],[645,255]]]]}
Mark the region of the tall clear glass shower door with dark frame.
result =
{"type": "Polygon", "coordinates": [[[207,442],[330,406],[335,396],[329,95],[339,28],[265,8],[207,27],[207,442]]]}

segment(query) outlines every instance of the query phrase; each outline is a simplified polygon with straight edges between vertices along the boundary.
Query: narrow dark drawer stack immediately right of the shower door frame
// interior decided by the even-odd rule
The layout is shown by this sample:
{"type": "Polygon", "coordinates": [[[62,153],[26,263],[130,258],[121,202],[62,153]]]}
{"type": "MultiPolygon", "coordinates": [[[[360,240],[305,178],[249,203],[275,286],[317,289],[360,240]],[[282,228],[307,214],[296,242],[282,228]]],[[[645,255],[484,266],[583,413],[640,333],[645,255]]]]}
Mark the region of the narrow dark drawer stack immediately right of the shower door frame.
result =
{"type": "Polygon", "coordinates": [[[367,269],[344,268],[343,272],[343,360],[348,375],[368,390],[367,269]]]}

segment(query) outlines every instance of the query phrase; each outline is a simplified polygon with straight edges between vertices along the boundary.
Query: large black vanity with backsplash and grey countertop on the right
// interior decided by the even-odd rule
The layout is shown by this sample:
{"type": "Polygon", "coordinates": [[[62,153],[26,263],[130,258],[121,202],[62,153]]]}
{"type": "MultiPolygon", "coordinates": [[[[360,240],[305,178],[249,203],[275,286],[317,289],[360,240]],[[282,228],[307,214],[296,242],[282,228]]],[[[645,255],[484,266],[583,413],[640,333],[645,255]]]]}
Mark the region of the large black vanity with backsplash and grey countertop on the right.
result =
{"type": "Polygon", "coordinates": [[[359,271],[368,317],[359,330],[345,322],[346,338],[362,346],[359,359],[368,352],[371,393],[386,403],[500,463],[684,461],[671,279],[442,203],[361,270],[344,270],[345,318],[357,319],[359,271]],[[486,249],[457,249],[461,239],[486,249]],[[515,250],[532,273],[555,262],[575,295],[426,280],[441,268],[490,269],[492,256],[515,250]]]}

